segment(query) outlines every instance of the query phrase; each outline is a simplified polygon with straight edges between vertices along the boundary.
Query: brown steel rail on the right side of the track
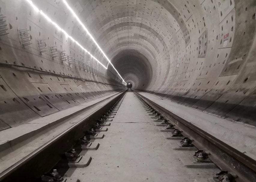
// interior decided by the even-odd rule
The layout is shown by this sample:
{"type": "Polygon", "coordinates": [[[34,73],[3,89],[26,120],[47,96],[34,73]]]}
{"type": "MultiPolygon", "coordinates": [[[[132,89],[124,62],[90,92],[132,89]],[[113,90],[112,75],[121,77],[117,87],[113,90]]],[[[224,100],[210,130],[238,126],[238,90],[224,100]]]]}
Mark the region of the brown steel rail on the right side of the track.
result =
{"type": "Polygon", "coordinates": [[[239,178],[237,182],[253,182],[256,181],[256,160],[231,147],[227,143],[219,140],[211,134],[203,131],[187,120],[179,117],[168,109],[153,102],[149,98],[137,93],[134,93],[141,99],[152,105],[158,112],[173,121],[183,134],[194,138],[193,142],[197,148],[210,152],[209,158],[222,170],[228,170],[235,173],[239,178]]]}

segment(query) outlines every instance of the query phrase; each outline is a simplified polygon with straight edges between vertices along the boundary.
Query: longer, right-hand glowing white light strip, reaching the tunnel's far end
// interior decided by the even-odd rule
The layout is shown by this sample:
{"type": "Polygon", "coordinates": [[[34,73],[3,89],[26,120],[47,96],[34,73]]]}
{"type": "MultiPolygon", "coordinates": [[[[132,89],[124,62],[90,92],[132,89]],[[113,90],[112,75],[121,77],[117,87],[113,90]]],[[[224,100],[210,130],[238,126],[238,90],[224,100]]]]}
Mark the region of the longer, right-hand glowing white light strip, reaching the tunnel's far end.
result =
{"type": "MultiPolygon", "coordinates": [[[[101,51],[101,53],[104,55],[104,57],[107,59],[107,61],[109,62],[109,64],[114,68],[114,70],[116,71],[116,73],[119,75],[119,77],[121,77],[121,75],[118,73],[118,71],[116,70],[116,68],[114,67],[114,65],[110,62],[110,59],[108,59],[107,55],[102,51],[101,47],[98,45],[98,43],[96,42],[96,40],[93,38],[92,34],[89,32],[89,30],[84,26],[84,24],[81,22],[81,20],[78,18],[78,16],[76,15],[76,13],[74,12],[74,10],[72,10],[72,8],[68,5],[66,0],[62,0],[64,2],[64,4],[66,5],[66,7],[68,8],[68,10],[72,13],[72,15],[77,19],[77,22],[83,27],[83,29],[86,31],[86,33],[89,35],[89,37],[92,39],[92,41],[95,43],[95,45],[98,47],[98,49],[101,51]]],[[[123,80],[123,82],[125,82],[125,80],[121,77],[121,79],[123,80]]],[[[125,84],[127,84],[125,82],[125,84]]]]}

